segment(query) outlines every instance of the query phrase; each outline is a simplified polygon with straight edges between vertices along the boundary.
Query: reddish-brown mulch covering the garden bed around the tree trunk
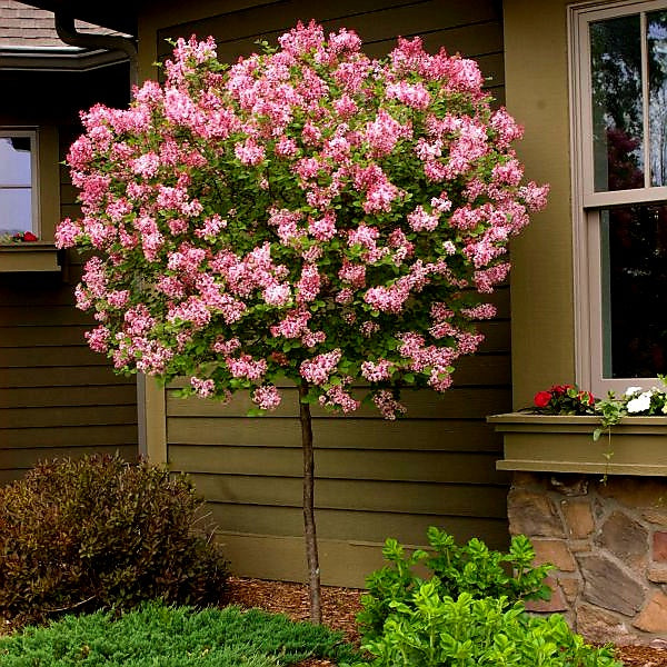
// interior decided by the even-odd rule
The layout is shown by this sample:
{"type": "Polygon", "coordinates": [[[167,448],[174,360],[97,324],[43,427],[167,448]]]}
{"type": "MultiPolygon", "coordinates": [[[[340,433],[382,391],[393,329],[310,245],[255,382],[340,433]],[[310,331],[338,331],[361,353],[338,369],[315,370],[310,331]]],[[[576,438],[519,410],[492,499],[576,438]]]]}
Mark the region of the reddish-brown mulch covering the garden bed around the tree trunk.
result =
{"type": "MultiPolygon", "coordinates": [[[[341,630],[346,638],[358,645],[355,616],[361,608],[361,591],[355,588],[322,587],[322,621],[341,630]]],[[[240,607],[260,607],[267,611],[286,614],[293,620],[308,620],[308,589],[301,584],[265,581],[230,577],[229,604],[240,607]]],[[[617,649],[617,658],[627,667],[667,667],[667,649],[628,646],[617,649]]],[[[298,667],[332,667],[329,660],[306,660],[298,667]]]]}

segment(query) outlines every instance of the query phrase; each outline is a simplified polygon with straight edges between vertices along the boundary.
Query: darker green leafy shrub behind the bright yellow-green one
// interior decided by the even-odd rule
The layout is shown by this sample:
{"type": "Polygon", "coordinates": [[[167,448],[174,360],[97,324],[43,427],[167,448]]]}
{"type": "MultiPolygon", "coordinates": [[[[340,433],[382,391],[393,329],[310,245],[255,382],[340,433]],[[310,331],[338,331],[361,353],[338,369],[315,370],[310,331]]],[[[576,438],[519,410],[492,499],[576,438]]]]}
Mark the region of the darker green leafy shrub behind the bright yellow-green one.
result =
{"type": "Polygon", "coordinates": [[[380,636],[392,605],[411,605],[424,579],[415,573],[421,565],[430,570],[430,584],[441,597],[458,598],[462,593],[474,598],[505,596],[508,604],[520,599],[548,599],[544,583],[550,565],[531,567],[535,550],[527,537],[512,538],[509,551],[490,550],[472,538],[459,546],[454,537],[431,526],[428,531],[431,552],[418,549],[406,555],[395,539],[387,539],[382,555],[389,561],[367,579],[368,594],[362,597],[364,610],[358,620],[367,638],[380,636]]]}

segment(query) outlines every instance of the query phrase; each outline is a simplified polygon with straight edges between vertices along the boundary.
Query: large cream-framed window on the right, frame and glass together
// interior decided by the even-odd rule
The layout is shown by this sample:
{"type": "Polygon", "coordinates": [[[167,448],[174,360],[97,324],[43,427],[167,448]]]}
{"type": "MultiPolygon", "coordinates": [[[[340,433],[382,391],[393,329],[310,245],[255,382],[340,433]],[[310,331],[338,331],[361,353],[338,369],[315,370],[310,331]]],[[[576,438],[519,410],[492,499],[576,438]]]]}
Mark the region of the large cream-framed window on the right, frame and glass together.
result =
{"type": "Polygon", "coordinates": [[[577,380],[667,374],[667,2],[573,8],[577,380]]]}

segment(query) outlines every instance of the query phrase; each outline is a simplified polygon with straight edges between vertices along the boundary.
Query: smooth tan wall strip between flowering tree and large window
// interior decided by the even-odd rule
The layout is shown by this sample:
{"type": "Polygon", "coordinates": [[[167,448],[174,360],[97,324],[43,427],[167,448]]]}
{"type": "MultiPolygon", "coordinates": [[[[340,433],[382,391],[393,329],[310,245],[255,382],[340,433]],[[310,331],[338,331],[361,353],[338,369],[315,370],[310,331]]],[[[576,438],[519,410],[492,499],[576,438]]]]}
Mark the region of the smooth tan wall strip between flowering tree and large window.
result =
{"type": "Polygon", "coordinates": [[[526,128],[517,152],[551,188],[511,245],[514,406],[522,408],[536,391],[575,381],[567,1],[502,6],[507,108],[526,128]]]}

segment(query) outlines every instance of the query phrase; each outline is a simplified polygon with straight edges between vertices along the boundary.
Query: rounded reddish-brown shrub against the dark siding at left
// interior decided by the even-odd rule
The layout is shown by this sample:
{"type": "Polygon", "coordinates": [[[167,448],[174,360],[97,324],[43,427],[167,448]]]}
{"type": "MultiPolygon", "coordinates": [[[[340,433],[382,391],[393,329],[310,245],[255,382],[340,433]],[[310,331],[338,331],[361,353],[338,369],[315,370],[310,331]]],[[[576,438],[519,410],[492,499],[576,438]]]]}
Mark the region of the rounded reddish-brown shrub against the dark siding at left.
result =
{"type": "Polygon", "coordinates": [[[52,461],[0,488],[0,616],[217,603],[226,563],[182,476],[116,457],[52,461]]]}

